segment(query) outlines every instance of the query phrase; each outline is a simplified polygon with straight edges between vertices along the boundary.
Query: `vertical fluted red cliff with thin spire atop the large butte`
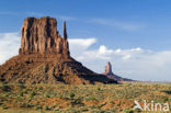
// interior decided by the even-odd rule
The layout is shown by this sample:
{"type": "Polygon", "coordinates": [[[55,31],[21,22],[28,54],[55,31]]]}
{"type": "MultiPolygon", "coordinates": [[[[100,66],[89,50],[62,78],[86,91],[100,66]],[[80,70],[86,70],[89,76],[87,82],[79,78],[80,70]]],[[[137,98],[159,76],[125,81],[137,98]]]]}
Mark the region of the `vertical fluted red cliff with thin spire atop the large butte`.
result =
{"type": "Polygon", "coordinates": [[[21,29],[20,54],[64,54],[69,55],[66,22],[64,22],[64,38],[57,32],[57,21],[54,18],[27,18],[21,29]]]}

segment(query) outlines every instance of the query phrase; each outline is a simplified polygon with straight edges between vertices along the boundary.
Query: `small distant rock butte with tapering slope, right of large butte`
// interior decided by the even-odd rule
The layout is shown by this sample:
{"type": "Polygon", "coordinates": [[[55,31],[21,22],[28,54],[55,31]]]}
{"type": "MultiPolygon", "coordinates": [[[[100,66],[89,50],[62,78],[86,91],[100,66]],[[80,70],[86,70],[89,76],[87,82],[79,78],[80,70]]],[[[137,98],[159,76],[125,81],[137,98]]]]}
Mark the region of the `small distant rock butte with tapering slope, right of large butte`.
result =
{"type": "Polygon", "coordinates": [[[122,78],[119,76],[116,76],[113,74],[112,71],[112,65],[110,61],[107,61],[106,66],[105,66],[105,72],[103,72],[104,76],[106,76],[110,79],[116,80],[118,82],[124,82],[124,81],[134,81],[132,79],[126,79],[126,78],[122,78]]]}

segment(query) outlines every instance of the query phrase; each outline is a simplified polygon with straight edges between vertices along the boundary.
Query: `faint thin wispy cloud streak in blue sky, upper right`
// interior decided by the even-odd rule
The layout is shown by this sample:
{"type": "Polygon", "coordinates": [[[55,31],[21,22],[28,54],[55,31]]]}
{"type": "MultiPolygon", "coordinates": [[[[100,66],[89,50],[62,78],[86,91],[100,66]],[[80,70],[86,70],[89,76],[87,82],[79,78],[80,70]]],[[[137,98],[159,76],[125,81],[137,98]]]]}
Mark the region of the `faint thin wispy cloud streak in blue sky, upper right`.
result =
{"type": "Polygon", "coordinates": [[[132,22],[121,22],[111,19],[92,19],[90,22],[117,27],[125,31],[136,31],[144,27],[144,24],[135,24],[132,22]]]}

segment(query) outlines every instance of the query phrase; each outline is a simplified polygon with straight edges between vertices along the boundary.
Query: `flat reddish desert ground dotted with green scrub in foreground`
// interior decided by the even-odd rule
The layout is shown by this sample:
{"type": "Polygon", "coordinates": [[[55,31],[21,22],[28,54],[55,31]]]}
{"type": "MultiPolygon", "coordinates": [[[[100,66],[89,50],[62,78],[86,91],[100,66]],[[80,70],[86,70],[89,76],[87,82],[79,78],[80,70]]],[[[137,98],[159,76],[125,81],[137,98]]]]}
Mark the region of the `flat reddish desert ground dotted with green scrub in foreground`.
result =
{"type": "Polygon", "coordinates": [[[135,100],[171,105],[171,84],[0,84],[0,113],[137,113],[135,100]]]}

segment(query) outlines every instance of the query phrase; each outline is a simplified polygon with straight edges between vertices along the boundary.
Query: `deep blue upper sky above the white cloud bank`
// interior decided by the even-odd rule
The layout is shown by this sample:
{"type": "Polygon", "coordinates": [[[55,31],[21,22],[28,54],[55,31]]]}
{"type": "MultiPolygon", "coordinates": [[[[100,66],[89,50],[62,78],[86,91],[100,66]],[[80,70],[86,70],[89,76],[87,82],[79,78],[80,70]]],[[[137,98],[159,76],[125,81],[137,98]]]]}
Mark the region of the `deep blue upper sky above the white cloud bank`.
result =
{"type": "Polygon", "coordinates": [[[70,37],[95,36],[109,47],[162,50],[171,48],[170,4],[170,0],[3,0],[0,32],[19,32],[26,16],[66,16],[70,37]]]}

